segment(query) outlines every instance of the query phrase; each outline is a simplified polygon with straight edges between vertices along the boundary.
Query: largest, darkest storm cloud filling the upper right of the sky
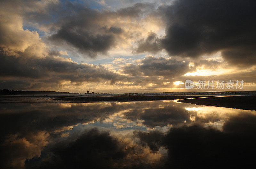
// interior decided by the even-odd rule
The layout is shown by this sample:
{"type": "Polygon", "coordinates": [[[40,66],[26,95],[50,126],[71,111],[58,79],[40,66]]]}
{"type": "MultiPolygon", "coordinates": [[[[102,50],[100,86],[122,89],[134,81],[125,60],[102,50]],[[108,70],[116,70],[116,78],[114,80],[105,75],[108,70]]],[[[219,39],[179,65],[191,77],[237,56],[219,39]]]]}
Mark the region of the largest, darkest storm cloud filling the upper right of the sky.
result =
{"type": "Polygon", "coordinates": [[[255,64],[255,6],[253,0],[177,0],[160,6],[156,15],[166,22],[165,37],[149,43],[149,35],[136,51],[156,53],[161,41],[160,46],[172,56],[195,58],[222,51],[232,64],[255,64]]]}

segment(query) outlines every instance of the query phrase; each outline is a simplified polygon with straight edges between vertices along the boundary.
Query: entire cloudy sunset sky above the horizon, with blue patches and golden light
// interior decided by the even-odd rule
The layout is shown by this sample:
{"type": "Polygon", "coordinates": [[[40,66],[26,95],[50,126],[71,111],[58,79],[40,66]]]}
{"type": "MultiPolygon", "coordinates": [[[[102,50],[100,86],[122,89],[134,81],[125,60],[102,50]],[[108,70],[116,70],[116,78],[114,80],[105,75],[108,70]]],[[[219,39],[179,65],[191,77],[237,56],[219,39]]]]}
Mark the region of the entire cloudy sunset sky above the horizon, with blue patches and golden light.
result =
{"type": "Polygon", "coordinates": [[[254,0],[1,0],[0,89],[256,90],[255,11],[254,0]]]}

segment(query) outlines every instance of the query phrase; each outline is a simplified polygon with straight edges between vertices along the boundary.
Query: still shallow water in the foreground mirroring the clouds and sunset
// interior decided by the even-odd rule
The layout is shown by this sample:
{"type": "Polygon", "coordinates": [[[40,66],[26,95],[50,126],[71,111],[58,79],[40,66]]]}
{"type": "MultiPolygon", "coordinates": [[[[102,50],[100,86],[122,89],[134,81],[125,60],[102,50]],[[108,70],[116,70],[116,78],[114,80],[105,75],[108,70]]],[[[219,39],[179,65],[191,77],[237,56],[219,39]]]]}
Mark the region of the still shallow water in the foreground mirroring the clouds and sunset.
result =
{"type": "Polygon", "coordinates": [[[0,104],[0,122],[0,168],[245,166],[256,150],[256,111],[173,100],[0,104]]]}

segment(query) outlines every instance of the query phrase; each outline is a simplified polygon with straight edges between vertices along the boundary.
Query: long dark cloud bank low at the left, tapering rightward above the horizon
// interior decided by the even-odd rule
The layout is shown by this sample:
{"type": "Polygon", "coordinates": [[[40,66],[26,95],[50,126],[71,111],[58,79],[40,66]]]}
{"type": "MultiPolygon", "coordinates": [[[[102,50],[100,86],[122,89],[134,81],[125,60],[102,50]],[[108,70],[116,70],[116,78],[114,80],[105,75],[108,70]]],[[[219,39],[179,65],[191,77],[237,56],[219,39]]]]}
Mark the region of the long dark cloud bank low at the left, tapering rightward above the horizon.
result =
{"type": "Polygon", "coordinates": [[[28,53],[10,53],[4,49],[0,50],[0,71],[2,77],[24,77],[24,78],[53,78],[55,81],[70,80],[71,82],[100,82],[110,80],[115,82],[126,78],[111,72],[102,66],[77,64],[71,59],[58,57],[58,52],[50,52],[43,58],[30,57],[28,53]],[[74,74],[76,74],[74,76],[74,74]]]}

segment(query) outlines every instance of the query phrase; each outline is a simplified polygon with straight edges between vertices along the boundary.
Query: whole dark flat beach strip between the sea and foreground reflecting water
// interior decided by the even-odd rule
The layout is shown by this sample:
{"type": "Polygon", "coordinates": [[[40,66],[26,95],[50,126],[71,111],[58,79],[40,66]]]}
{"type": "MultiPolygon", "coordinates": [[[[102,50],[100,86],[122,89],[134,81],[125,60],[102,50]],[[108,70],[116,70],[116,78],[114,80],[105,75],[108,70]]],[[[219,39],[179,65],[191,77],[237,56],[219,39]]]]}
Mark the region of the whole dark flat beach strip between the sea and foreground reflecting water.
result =
{"type": "Polygon", "coordinates": [[[178,100],[197,105],[256,110],[256,95],[55,95],[55,96],[2,96],[0,103],[84,103],[84,102],[136,102],[178,100]]]}

